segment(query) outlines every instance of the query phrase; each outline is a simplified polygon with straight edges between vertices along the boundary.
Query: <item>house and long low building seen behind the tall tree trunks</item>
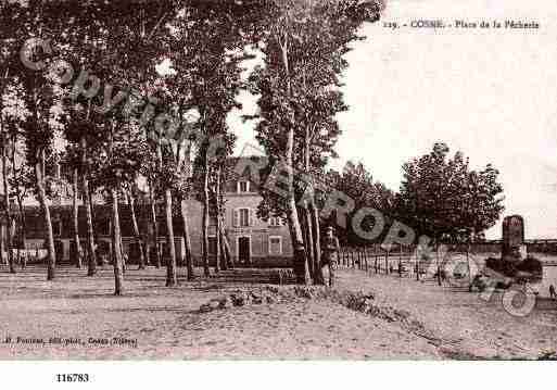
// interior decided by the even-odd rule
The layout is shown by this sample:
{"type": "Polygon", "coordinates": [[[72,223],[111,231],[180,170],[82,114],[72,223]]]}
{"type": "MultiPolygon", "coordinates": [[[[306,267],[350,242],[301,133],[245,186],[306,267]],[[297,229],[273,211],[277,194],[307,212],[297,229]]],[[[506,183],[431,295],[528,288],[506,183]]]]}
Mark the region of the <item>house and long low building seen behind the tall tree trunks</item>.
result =
{"type": "MultiPolygon", "coordinates": [[[[256,216],[257,205],[261,196],[256,185],[248,178],[235,178],[226,183],[224,222],[226,236],[230,246],[231,255],[237,265],[253,267],[291,266],[292,244],[288,226],[280,218],[271,217],[263,221],[256,216]]],[[[71,263],[75,257],[74,224],[71,198],[56,200],[50,206],[52,228],[56,257],[60,263],[71,263]]],[[[189,199],[185,201],[189,217],[189,232],[191,252],[197,265],[201,265],[202,253],[202,203],[189,199]]],[[[93,206],[93,226],[96,231],[96,243],[99,252],[112,253],[112,219],[111,205],[96,204],[93,206]]],[[[156,204],[159,238],[157,242],[164,253],[166,250],[166,223],[164,218],[164,204],[156,204]]],[[[178,210],[178,207],[175,207],[178,210]]],[[[15,215],[14,210],[14,215],[15,215]]],[[[138,219],[141,238],[144,242],[154,242],[154,234],[150,224],[150,207],[148,204],[136,204],[136,216],[138,219]]],[[[134,237],[131,212],[128,204],[119,205],[119,219],[123,236],[123,248],[128,254],[130,262],[139,257],[139,246],[134,237]]],[[[216,219],[210,218],[208,226],[208,254],[210,262],[214,264],[216,253],[216,219]]],[[[86,244],[86,214],[85,207],[79,205],[79,239],[81,248],[86,244]]],[[[21,224],[17,224],[21,226],[21,224]]],[[[26,235],[24,242],[21,242],[21,235],[14,232],[14,243],[18,248],[36,252],[43,252],[45,246],[45,219],[39,206],[25,207],[26,235]],[[20,238],[20,239],[18,239],[20,238]]],[[[185,259],[185,240],[181,236],[181,218],[176,212],[173,221],[175,247],[178,263],[185,259]]],[[[5,236],[5,235],[4,235],[5,236]]],[[[151,246],[151,251],[154,251],[151,246]]],[[[5,247],[4,247],[5,248],[5,247]]],[[[154,254],[152,252],[152,254],[154,254]]],[[[153,256],[151,256],[153,259],[153,256]]]]}

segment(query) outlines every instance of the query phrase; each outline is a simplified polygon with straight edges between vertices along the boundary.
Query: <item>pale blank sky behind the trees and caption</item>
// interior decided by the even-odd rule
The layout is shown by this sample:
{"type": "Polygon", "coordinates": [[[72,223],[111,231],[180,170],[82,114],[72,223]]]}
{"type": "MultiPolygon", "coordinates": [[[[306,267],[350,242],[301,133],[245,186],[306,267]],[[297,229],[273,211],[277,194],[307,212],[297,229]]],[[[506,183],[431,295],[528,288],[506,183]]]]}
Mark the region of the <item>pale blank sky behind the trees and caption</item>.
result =
{"type": "MultiPolygon", "coordinates": [[[[527,238],[557,237],[557,8],[554,0],[390,0],[382,21],[346,56],[337,146],[341,168],[362,161],[376,180],[398,189],[405,161],[436,141],[460,150],[473,168],[501,172],[504,215],[521,214],[527,238]],[[536,21],[540,29],[383,27],[414,20],[536,21]]],[[[244,111],[253,98],[242,98],[244,111]]],[[[238,148],[253,128],[230,125],[238,148]]],[[[488,231],[501,238],[501,221],[488,231]]]]}

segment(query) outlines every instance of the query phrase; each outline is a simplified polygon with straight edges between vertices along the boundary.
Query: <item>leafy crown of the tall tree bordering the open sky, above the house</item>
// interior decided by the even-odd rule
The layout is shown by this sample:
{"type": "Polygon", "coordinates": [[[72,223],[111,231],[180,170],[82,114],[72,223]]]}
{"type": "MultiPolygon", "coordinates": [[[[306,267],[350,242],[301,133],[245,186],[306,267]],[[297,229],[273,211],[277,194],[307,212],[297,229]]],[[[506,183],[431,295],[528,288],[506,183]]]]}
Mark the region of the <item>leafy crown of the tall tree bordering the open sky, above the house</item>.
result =
{"type": "MultiPolygon", "coordinates": [[[[344,55],[351,42],[363,39],[358,28],[376,22],[382,4],[352,0],[277,0],[268,11],[269,27],[259,45],[265,63],[250,77],[251,91],[258,98],[256,138],[269,158],[269,169],[282,161],[298,172],[308,150],[312,174],[322,173],[340,136],[336,115],[347,110],[340,90],[342,72],[347,67],[344,55]],[[288,131],[293,131],[292,161],[288,131]],[[308,147],[308,148],[305,148],[308,147]]],[[[305,191],[306,183],[293,177],[294,197],[305,191]]],[[[288,199],[262,189],[264,200],[258,213],[283,215],[288,199]]]]}

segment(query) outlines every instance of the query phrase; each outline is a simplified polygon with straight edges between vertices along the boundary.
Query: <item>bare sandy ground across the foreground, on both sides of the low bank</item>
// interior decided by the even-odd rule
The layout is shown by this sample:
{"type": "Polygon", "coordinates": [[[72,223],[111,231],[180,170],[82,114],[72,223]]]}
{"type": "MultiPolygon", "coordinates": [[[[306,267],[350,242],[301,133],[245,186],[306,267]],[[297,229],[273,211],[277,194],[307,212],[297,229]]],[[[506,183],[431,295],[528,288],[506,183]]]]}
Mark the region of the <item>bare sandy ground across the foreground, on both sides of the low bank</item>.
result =
{"type": "MultiPolygon", "coordinates": [[[[180,273],[183,271],[180,269],[180,273]]],[[[417,332],[329,300],[296,299],[201,313],[200,305],[257,284],[218,277],[165,288],[165,269],[129,269],[124,297],[113,274],[0,272],[0,358],[535,358],[557,350],[557,304],[515,317],[495,294],[341,269],[338,289],[374,292],[404,310],[417,332]]]]}

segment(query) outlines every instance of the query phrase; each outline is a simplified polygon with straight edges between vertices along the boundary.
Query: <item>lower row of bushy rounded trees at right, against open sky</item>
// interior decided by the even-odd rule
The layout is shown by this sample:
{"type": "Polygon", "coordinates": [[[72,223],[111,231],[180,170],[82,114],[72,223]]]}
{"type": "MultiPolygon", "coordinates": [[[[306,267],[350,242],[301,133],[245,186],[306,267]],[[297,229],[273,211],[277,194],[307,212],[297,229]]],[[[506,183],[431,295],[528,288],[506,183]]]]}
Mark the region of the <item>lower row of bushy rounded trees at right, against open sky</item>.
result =
{"type": "MultiPolygon", "coordinates": [[[[362,163],[349,161],[342,173],[328,172],[329,183],[354,200],[346,229],[339,229],[344,243],[369,243],[350,223],[363,207],[378,210],[383,216],[384,228],[377,235],[376,242],[384,240],[393,221],[414,228],[416,240],[427,236],[433,243],[481,241],[485,230],[495,225],[504,211],[497,169],[491,164],[472,169],[463,152],[451,155],[445,143],[435,143],[431,152],[405,163],[402,169],[403,180],[397,192],[374,181],[362,163]]],[[[334,221],[334,215],[328,218],[329,224],[334,221]]],[[[371,230],[376,223],[372,216],[364,218],[363,229],[371,230]]]]}

